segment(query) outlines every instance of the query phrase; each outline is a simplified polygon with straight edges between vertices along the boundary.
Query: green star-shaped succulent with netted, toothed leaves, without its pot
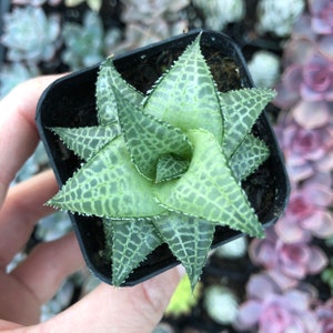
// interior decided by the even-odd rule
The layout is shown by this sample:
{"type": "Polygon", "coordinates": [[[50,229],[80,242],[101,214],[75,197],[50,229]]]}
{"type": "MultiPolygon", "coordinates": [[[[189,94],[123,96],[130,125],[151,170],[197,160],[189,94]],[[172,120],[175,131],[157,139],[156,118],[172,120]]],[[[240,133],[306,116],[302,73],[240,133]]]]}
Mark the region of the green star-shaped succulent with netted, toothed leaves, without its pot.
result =
{"type": "Polygon", "coordinates": [[[49,204],[102,218],[114,285],[167,243],[193,289],[215,226],[263,236],[241,181],[270,154],[251,129],[274,92],[219,92],[200,39],[147,95],[107,59],[98,125],[52,129],[84,163],[49,204]]]}

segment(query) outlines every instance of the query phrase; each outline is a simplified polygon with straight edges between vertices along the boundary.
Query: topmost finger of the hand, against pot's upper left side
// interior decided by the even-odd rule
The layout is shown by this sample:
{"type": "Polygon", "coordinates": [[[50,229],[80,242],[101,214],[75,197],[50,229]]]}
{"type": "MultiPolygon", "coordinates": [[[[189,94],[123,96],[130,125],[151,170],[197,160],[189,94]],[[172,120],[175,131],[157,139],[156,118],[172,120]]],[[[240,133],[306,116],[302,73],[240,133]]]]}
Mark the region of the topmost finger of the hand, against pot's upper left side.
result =
{"type": "Polygon", "coordinates": [[[0,101],[0,205],[16,173],[37,147],[36,108],[43,90],[60,75],[38,77],[0,101]]]}

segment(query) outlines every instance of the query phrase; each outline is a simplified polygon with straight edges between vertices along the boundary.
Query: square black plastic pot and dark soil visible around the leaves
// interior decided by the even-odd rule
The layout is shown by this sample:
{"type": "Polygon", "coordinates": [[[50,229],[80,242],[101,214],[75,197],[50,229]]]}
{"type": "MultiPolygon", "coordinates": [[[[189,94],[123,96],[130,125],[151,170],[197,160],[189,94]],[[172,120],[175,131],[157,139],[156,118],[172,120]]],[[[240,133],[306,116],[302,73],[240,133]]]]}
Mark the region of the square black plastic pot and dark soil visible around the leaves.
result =
{"type": "MultiPolygon", "coordinates": [[[[114,63],[122,75],[137,89],[145,92],[161,72],[191,43],[202,30],[115,57],[114,63]]],[[[202,50],[221,90],[253,87],[239,48],[226,36],[203,31],[202,50]],[[231,83],[228,80],[231,80],[231,83]],[[225,83],[226,82],[226,83],[225,83]]],[[[50,127],[84,127],[97,124],[95,80],[99,65],[74,72],[51,84],[40,99],[37,124],[49,154],[50,164],[61,186],[80,167],[81,161],[69,151],[50,130],[50,127]]],[[[282,214],[290,191],[283,159],[273,131],[263,113],[253,133],[266,142],[270,159],[242,186],[264,226],[272,225],[282,214]]],[[[90,270],[102,281],[111,283],[111,261],[103,258],[104,233],[101,219],[71,214],[83,256],[90,270]]],[[[216,228],[212,248],[224,244],[240,232],[216,228]]],[[[125,285],[133,285],[178,264],[168,246],[161,245],[140,268],[133,271],[125,285]]]]}

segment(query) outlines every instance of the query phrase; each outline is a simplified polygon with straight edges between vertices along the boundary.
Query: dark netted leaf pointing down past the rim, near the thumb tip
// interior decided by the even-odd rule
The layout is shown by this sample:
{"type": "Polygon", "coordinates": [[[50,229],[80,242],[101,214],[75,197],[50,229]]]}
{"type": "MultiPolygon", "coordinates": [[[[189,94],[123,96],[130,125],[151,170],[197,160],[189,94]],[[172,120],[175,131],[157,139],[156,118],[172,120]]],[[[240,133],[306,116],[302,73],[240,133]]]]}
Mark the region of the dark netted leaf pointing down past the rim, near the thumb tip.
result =
{"type": "Polygon", "coordinates": [[[215,226],[205,220],[178,213],[155,219],[154,225],[185,268],[193,291],[205,264],[215,226]]]}

